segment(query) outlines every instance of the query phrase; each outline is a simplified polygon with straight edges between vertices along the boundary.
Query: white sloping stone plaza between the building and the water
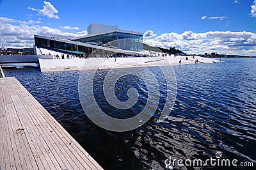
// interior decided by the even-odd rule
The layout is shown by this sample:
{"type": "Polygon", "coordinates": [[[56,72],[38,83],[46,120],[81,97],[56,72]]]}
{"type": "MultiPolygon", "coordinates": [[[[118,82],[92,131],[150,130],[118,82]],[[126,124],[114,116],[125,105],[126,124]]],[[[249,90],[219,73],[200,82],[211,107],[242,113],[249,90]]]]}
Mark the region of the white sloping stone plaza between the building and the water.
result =
{"type": "MultiPolygon", "coordinates": [[[[222,61],[196,56],[198,63],[220,63],[222,61]]],[[[41,72],[63,72],[74,70],[93,70],[111,68],[134,68],[140,66],[168,66],[183,64],[195,64],[195,59],[186,60],[183,56],[167,56],[152,58],[87,58],[87,59],[39,59],[41,72]],[[164,58],[168,63],[161,62],[164,58]],[[157,61],[157,62],[155,62],[157,61]],[[157,64],[156,64],[157,63],[157,64]]]]}

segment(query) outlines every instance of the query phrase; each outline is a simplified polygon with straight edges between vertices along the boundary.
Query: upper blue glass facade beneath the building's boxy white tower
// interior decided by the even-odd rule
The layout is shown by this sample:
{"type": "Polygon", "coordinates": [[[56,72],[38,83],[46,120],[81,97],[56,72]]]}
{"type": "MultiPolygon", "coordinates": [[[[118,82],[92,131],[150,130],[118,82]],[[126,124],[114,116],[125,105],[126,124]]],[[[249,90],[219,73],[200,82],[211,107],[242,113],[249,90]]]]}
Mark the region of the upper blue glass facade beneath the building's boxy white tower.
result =
{"type": "Polygon", "coordinates": [[[143,50],[143,37],[131,33],[112,32],[102,35],[95,35],[85,38],[79,38],[76,42],[90,43],[94,45],[104,45],[106,47],[142,51],[143,50]]]}

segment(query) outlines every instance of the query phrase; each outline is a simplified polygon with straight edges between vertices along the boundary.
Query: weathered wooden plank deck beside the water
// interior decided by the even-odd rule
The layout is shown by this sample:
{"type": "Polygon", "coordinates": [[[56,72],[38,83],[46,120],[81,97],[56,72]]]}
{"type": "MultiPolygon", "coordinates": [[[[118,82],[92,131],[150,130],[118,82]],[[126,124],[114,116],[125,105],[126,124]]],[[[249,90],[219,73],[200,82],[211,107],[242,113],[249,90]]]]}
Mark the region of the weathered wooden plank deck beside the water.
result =
{"type": "Polygon", "coordinates": [[[0,169],[102,169],[15,77],[0,79],[0,169]]]}

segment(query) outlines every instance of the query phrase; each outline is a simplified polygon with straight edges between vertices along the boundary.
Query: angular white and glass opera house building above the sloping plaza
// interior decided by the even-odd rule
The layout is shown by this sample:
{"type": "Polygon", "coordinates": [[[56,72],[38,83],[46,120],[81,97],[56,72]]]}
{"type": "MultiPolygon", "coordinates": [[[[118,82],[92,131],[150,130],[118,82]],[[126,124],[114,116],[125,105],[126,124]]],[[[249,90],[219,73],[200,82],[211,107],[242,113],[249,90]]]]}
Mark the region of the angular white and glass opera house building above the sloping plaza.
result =
{"type": "Polygon", "coordinates": [[[95,49],[122,54],[141,54],[143,51],[142,33],[124,31],[117,26],[103,24],[90,24],[87,31],[88,35],[76,38],[34,35],[35,54],[44,54],[42,50],[78,56],[91,54],[95,49]]]}

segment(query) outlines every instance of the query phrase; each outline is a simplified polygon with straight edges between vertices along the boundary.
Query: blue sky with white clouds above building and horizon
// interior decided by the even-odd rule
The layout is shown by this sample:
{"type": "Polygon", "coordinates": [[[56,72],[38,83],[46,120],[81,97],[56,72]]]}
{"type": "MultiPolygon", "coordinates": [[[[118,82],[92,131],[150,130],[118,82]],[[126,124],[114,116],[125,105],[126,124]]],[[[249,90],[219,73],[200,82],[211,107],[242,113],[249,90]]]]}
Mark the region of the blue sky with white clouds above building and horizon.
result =
{"type": "Polygon", "coordinates": [[[91,23],[143,33],[143,42],[188,54],[256,56],[256,0],[0,0],[0,43],[33,35],[83,36],[91,23]]]}

